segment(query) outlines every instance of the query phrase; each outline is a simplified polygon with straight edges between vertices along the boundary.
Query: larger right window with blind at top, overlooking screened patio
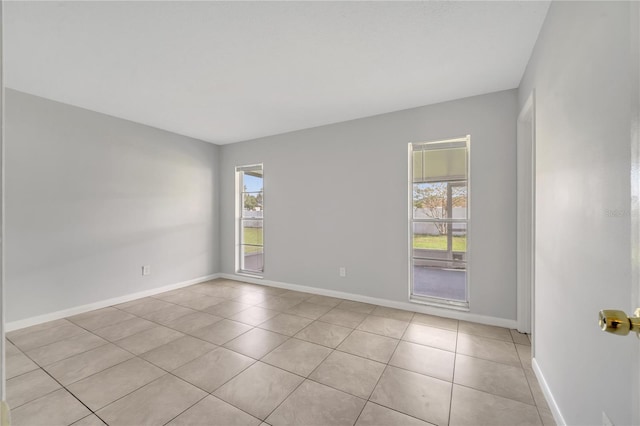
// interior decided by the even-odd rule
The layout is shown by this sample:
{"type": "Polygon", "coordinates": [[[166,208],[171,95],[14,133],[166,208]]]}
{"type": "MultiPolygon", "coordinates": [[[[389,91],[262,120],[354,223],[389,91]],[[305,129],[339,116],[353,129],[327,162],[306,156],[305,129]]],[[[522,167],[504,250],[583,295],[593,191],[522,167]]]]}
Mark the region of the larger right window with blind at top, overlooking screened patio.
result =
{"type": "Polygon", "coordinates": [[[466,308],[469,136],[409,148],[411,297],[466,308]]]}

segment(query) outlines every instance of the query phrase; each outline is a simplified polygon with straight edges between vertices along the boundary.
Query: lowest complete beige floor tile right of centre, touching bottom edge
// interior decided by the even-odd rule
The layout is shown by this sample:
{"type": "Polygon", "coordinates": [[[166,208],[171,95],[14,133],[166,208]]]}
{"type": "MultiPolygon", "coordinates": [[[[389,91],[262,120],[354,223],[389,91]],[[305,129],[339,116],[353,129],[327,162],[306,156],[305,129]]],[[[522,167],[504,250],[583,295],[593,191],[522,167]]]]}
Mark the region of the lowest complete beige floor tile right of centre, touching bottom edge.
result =
{"type": "Polygon", "coordinates": [[[433,377],[387,367],[370,400],[429,423],[446,425],[451,386],[433,377]]]}

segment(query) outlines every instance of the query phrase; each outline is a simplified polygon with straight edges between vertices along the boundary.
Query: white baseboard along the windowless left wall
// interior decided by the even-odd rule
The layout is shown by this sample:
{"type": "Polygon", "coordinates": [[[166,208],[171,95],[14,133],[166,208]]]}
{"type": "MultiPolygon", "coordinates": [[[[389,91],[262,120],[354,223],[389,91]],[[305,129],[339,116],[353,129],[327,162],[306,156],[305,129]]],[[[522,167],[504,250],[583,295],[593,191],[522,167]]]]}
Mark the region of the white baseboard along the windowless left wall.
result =
{"type": "Polygon", "coordinates": [[[162,287],[156,287],[149,290],[139,291],[124,296],[114,297],[112,299],[101,300],[99,302],[89,303],[87,305],[76,306],[73,308],[63,309],[61,311],[51,312],[36,317],[25,318],[18,321],[12,321],[5,324],[5,332],[19,330],[21,328],[30,327],[32,325],[42,324],[43,322],[53,321],[60,318],[66,318],[72,315],[78,315],[95,309],[106,308],[107,306],[117,305],[118,303],[130,302],[132,300],[141,299],[143,297],[153,296],[165,291],[176,290],[178,288],[187,287],[193,284],[213,280],[219,278],[220,274],[206,275],[204,277],[194,278],[192,280],[182,281],[175,284],[169,284],[162,287]]]}

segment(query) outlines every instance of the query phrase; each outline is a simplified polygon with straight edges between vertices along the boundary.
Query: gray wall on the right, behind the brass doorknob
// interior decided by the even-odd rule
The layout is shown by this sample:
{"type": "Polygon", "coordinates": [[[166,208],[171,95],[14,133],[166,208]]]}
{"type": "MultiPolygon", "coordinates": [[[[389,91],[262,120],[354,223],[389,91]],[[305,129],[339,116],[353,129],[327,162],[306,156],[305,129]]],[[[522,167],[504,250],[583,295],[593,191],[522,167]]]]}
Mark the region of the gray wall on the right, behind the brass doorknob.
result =
{"type": "Polygon", "coordinates": [[[637,339],[596,323],[602,308],[635,308],[630,8],[553,2],[519,90],[520,105],[536,94],[535,359],[567,424],[640,421],[637,339]]]}

